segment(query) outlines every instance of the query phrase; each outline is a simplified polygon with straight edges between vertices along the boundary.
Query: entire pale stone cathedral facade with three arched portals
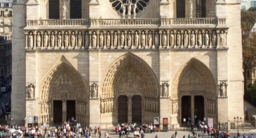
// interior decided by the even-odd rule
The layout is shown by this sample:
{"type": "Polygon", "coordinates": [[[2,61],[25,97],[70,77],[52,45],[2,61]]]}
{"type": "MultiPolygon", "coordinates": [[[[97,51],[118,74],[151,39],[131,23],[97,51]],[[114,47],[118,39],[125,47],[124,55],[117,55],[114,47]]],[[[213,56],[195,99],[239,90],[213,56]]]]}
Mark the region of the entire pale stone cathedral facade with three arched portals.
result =
{"type": "MultiPolygon", "coordinates": [[[[15,0],[16,123],[243,114],[239,0],[15,0]]],[[[184,120],[186,119],[186,120],[184,120]]]]}

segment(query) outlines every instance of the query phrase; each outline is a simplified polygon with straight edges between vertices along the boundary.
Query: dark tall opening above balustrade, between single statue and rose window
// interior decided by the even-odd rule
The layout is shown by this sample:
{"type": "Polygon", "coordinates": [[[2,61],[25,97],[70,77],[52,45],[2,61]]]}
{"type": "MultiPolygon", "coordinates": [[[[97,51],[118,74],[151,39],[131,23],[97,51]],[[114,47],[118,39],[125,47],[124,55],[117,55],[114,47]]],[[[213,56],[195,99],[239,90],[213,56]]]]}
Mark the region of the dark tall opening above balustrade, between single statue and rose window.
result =
{"type": "Polygon", "coordinates": [[[82,18],[82,1],[71,0],[70,1],[70,19],[82,18]]]}

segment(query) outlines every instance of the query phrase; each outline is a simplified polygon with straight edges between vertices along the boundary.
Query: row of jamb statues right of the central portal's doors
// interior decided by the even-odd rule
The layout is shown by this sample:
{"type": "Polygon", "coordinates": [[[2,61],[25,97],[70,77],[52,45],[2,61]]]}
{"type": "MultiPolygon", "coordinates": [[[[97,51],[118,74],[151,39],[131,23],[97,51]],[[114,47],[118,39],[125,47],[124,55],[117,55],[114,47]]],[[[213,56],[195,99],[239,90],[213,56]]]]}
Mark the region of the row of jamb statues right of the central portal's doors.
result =
{"type": "Polygon", "coordinates": [[[145,110],[147,112],[155,112],[158,113],[159,112],[159,102],[158,102],[158,98],[147,98],[145,97],[144,100],[144,105],[145,105],[145,110]]]}

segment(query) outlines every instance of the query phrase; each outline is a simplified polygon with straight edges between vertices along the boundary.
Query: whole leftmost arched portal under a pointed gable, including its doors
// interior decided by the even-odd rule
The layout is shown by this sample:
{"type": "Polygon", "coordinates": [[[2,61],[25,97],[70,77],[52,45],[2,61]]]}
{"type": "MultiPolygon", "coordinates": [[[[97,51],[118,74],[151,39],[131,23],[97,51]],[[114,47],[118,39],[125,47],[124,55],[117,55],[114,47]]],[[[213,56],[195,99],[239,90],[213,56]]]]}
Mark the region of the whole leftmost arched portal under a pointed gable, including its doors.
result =
{"type": "Polygon", "coordinates": [[[66,63],[53,69],[41,88],[41,123],[60,124],[74,117],[86,122],[86,88],[79,73],[66,63]],[[75,108],[74,108],[75,106],[75,108]]]}

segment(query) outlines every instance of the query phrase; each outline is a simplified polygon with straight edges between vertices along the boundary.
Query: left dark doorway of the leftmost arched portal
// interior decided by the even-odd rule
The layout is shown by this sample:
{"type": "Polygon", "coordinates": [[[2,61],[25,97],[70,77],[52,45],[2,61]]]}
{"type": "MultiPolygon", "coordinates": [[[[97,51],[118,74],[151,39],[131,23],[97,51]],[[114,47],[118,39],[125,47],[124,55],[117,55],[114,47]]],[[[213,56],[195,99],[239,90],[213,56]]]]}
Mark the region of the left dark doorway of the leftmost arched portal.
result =
{"type": "Polygon", "coordinates": [[[62,101],[53,101],[53,123],[62,124],[62,101]]]}

